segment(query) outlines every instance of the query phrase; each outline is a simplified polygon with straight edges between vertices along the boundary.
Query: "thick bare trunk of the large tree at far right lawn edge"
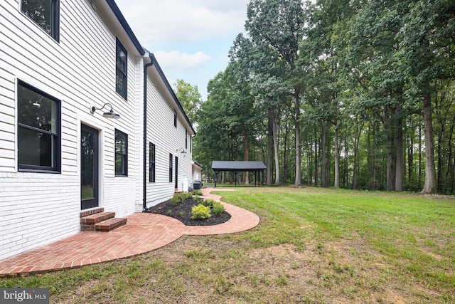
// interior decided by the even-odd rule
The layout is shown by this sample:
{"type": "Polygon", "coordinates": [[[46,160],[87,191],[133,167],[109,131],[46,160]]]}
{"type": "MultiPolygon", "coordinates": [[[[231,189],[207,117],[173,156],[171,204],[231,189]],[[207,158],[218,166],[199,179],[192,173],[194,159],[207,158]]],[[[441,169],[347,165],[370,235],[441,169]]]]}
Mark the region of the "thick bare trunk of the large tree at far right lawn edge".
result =
{"type": "Polygon", "coordinates": [[[432,95],[429,92],[429,83],[424,93],[424,131],[425,131],[425,184],[422,194],[437,193],[436,168],[434,167],[433,117],[432,95]]]}

